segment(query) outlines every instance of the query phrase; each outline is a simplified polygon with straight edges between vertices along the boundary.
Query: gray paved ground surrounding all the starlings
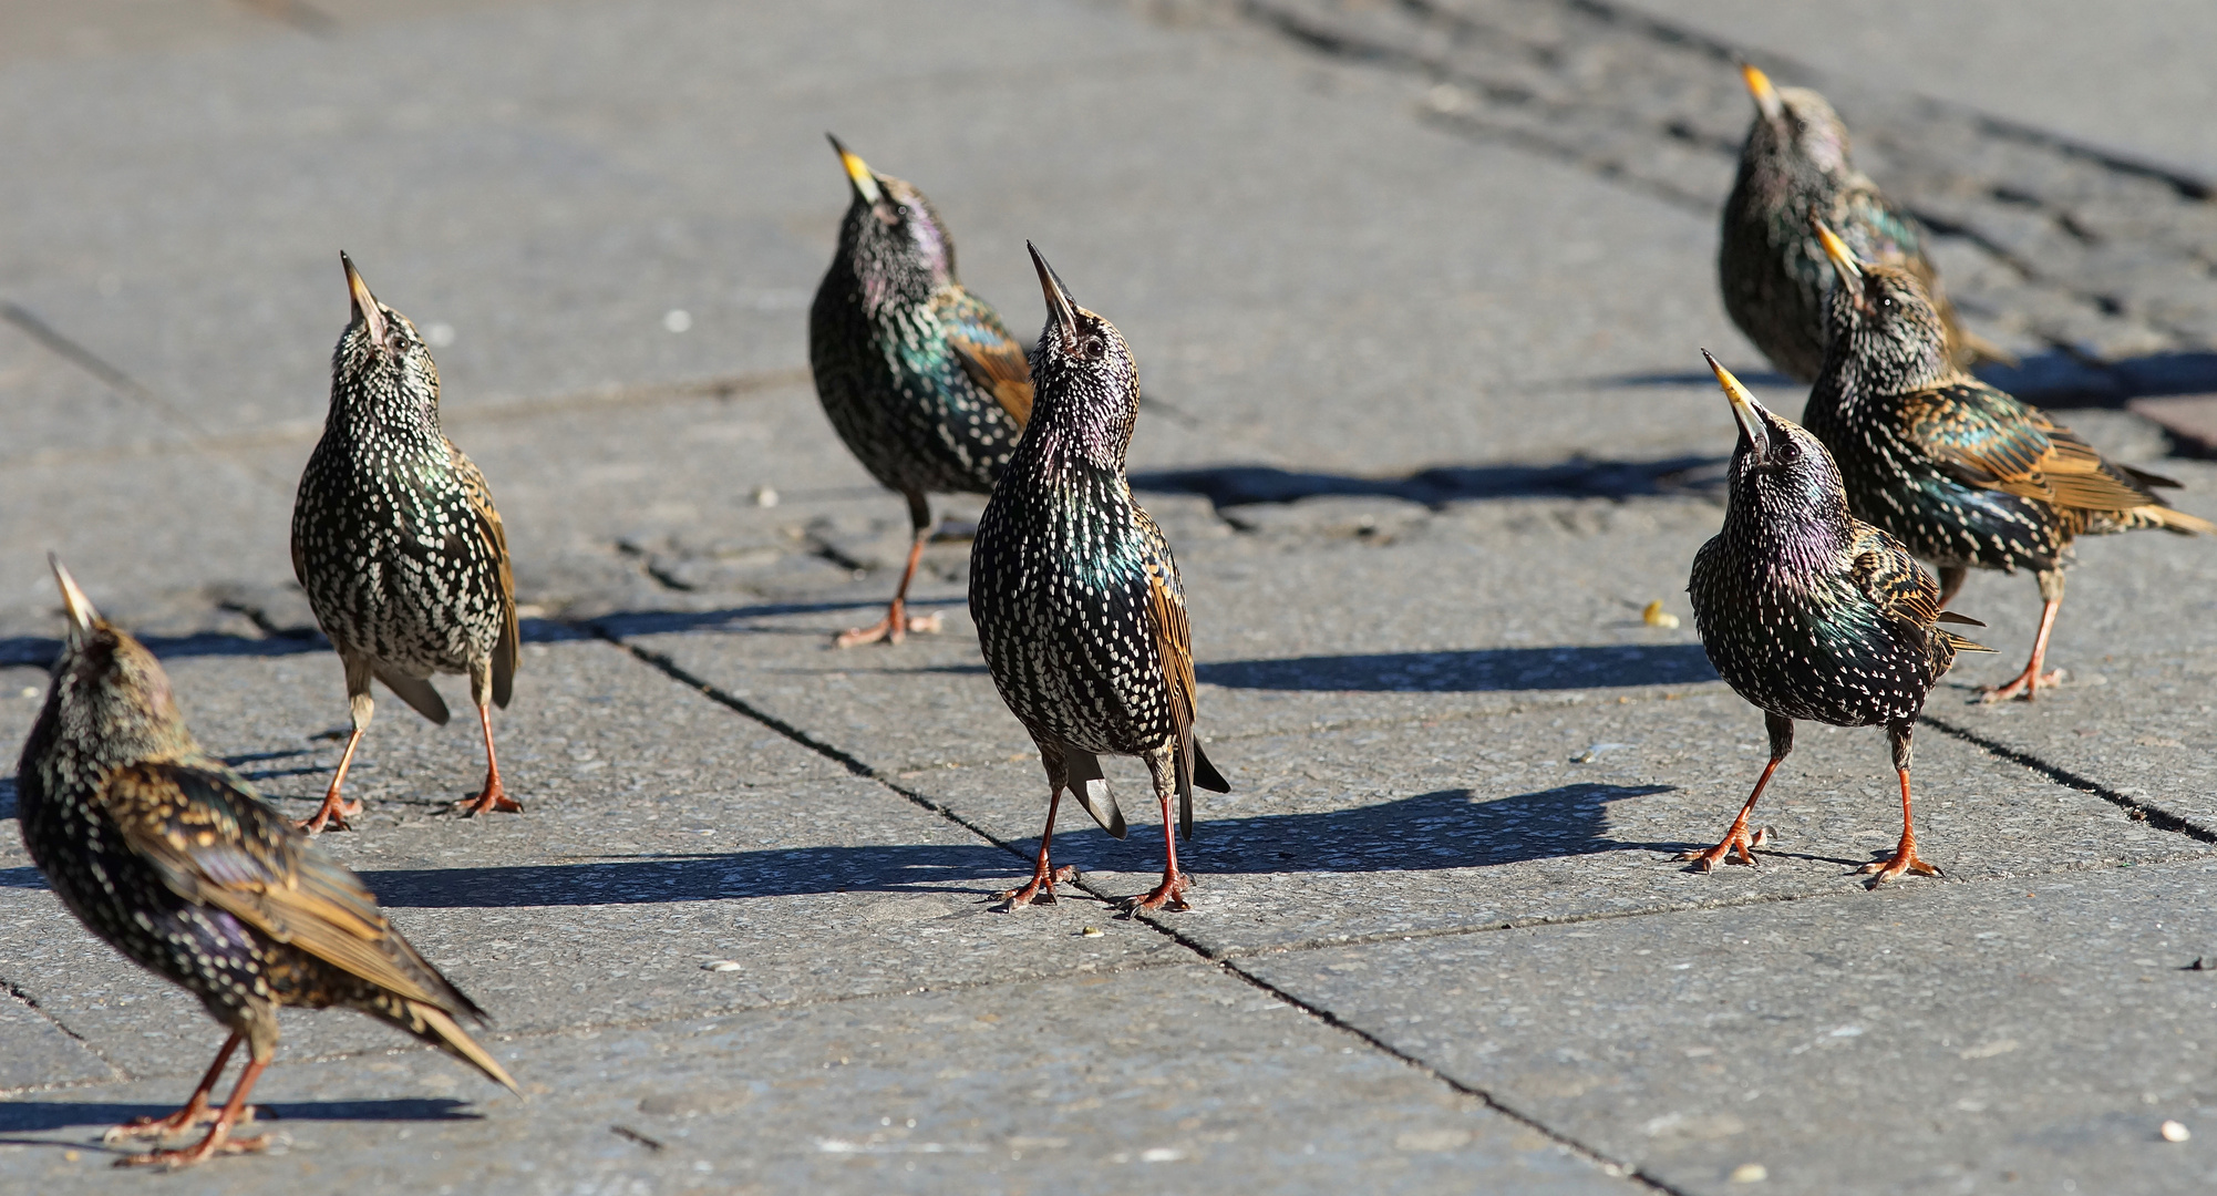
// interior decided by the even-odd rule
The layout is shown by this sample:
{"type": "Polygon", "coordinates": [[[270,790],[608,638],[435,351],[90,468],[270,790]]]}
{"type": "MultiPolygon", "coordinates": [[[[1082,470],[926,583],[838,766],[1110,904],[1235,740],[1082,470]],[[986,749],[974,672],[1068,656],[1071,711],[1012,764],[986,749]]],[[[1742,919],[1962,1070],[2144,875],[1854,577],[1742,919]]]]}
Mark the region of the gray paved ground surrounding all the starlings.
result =
{"type": "MultiPolygon", "coordinates": [[[[2217,1174],[2217,990],[2188,970],[2217,963],[2217,544],[2086,544],[2053,650],[2073,683],[2037,706],[1969,703],[2037,610],[2024,577],[1969,584],[2002,655],[1935,692],[1915,770],[1947,881],[1849,876],[1898,830],[1871,730],[1805,730],[1763,870],[1672,861],[1763,759],[1689,621],[1638,617],[1689,615],[1718,519],[1731,422],[1696,348],[1756,366],[1714,293],[1747,104],[1694,31],[1552,0],[20,9],[0,741],[44,688],[58,548],[155,639],[202,739],[310,808],[346,717],[286,524],[353,251],[443,326],[446,424],[510,528],[530,617],[499,732],[528,814],[443,817],[474,728],[386,701],[350,781],[370,810],[324,843],[492,1010],[530,1098],[288,1014],[257,1089],[282,1154],[106,1169],[100,1129],[175,1105],[217,1030],[4,832],[7,1187],[2217,1174]],[[1159,868],[1146,810],[1122,843],[1064,821],[1082,883],[991,910],[1044,794],[975,657],[967,544],[931,546],[918,588],[947,635],[825,648],[907,539],[807,384],[845,202],[825,129],[933,197],[1013,328],[1033,237],[1140,355],[1133,468],[1233,779],[1199,803],[1193,912],[1115,916],[1159,868]]],[[[2190,266],[2217,222],[2139,146],[1982,124],[2002,89],[1816,82],[1944,217],[1958,297],[2026,355],[2006,384],[2210,388],[2217,286],[2190,266]]],[[[2166,459],[2159,428],[2064,417],[2217,513],[2217,466],[2166,459]]]]}

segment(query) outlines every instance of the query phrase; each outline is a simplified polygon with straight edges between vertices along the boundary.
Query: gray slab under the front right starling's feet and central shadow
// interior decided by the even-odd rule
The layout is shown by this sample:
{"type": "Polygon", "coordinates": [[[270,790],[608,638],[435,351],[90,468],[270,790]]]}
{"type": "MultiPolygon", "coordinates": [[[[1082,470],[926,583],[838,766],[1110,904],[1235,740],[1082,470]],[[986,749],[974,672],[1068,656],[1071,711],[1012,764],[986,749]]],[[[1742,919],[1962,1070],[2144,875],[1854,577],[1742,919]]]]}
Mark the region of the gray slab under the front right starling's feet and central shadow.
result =
{"type": "MultiPolygon", "coordinates": [[[[1179,852],[1197,879],[1193,912],[1159,916],[1210,954],[1860,892],[1851,872],[1900,837],[1882,734],[1805,723],[1756,808],[1754,825],[1774,830],[1763,868],[1678,863],[1723,837],[1767,759],[1763,719],[1729,695],[1219,739],[1210,759],[1233,792],[1197,794],[1179,852]]],[[[1144,770],[1108,772],[1126,841],[1064,810],[1055,859],[1122,899],[1159,879],[1162,821],[1144,770]]],[[[2208,857],[1933,730],[1913,777],[1922,854],[1951,881],[2208,857]]],[[[1038,848],[1038,761],[900,783],[1038,848]]]]}

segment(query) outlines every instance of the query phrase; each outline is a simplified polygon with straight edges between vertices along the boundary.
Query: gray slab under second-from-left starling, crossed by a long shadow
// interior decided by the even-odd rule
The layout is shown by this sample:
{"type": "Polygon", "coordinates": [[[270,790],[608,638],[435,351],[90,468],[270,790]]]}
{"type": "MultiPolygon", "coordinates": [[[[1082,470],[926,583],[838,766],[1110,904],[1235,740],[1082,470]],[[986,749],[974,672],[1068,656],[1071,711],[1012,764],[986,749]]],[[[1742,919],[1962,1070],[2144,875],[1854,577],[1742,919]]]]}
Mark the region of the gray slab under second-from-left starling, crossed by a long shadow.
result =
{"type": "MultiPolygon", "coordinates": [[[[313,810],[306,799],[337,763],[337,741],[313,737],[344,726],[330,719],[344,695],[328,655],[173,657],[168,670],[213,752],[286,810],[313,810]]],[[[33,703],[4,708],[27,721],[33,703]]],[[[1046,919],[991,914],[1015,857],[599,641],[525,648],[517,701],[499,719],[521,817],[446,817],[483,777],[474,728],[381,708],[350,779],[370,810],[359,832],[321,843],[501,1030],[1182,956],[1082,894],[1046,919]],[[725,959],[743,967],[705,970],[725,959]]],[[[0,828],[0,981],[126,1074],[204,1067],[213,1023],[197,1003],[78,928],[29,865],[13,819],[0,828]]],[[[286,1034],[304,1054],[395,1041],[357,1016],[286,1014],[286,1034]]]]}

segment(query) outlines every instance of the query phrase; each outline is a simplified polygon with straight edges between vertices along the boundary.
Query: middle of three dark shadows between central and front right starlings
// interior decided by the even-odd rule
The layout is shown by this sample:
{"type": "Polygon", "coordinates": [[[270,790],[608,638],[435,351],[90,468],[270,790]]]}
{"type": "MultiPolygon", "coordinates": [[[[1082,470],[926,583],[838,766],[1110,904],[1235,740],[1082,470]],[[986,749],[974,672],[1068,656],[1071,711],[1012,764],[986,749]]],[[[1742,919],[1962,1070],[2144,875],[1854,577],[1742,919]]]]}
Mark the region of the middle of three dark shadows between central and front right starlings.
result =
{"type": "Polygon", "coordinates": [[[1700,643],[1610,648],[1474,648],[1222,661],[1195,675],[1230,690],[1501,692],[1689,686],[1716,681],[1700,643]]]}

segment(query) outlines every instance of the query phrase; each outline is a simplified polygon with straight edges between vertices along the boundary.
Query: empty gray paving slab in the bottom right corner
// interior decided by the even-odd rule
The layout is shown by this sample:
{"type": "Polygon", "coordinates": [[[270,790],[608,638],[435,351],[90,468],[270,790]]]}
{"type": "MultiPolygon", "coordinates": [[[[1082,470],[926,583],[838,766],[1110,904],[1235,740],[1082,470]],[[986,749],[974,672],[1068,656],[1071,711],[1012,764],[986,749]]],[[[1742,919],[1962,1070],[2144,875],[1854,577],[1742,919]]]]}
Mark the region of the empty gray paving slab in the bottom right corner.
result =
{"type": "Polygon", "coordinates": [[[2111,868],[1242,967],[1674,1192],[2195,1192],[2210,885],[2111,868]]]}

